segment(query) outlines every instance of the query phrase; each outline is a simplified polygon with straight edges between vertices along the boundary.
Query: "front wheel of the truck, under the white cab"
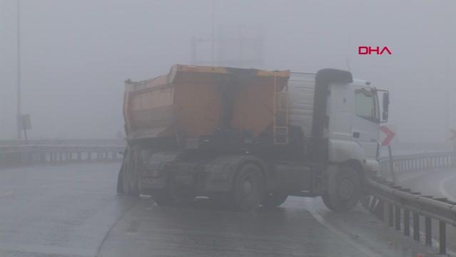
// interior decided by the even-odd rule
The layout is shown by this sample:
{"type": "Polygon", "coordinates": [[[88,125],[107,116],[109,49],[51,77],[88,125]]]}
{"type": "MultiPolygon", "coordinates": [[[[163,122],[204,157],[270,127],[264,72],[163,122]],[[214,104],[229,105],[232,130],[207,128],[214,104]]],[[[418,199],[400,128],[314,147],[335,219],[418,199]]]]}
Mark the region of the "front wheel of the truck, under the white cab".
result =
{"type": "Polygon", "coordinates": [[[351,167],[339,168],[335,193],[323,194],[323,203],[331,211],[350,211],[358,204],[361,196],[361,178],[359,173],[351,167]]]}

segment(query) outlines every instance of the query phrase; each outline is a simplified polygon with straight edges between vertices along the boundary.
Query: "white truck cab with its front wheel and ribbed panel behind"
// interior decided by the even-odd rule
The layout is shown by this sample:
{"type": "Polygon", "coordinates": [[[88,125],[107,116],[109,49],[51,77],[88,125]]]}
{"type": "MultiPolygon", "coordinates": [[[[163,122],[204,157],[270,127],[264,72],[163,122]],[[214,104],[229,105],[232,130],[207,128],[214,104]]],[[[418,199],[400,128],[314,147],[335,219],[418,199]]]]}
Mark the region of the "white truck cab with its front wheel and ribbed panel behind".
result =
{"type": "Polygon", "coordinates": [[[325,166],[325,205],[348,211],[358,203],[363,178],[378,171],[380,123],[387,121],[389,93],[353,79],[349,71],[323,69],[292,72],[288,98],[290,126],[303,131],[306,157],[325,166]]]}

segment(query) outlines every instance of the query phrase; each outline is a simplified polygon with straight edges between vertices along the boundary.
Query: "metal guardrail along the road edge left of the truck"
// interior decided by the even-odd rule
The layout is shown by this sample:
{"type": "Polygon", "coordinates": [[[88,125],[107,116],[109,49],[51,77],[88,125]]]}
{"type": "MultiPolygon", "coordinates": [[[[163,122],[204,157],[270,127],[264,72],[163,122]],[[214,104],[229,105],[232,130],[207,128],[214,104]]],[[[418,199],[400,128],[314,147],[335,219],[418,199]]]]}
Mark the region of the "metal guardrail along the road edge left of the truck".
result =
{"type": "Polygon", "coordinates": [[[0,146],[0,167],[78,161],[120,161],[125,146],[0,146]]]}

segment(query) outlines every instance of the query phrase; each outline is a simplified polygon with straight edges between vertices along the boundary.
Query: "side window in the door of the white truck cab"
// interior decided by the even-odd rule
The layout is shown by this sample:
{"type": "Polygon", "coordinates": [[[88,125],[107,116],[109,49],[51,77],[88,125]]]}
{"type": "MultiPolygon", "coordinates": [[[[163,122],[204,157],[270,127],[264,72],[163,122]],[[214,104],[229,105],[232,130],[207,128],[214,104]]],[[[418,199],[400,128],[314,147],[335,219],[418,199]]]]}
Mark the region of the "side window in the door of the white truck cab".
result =
{"type": "Polygon", "coordinates": [[[377,97],[375,91],[369,89],[355,90],[355,115],[369,121],[378,122],[379,114],[377,108],[377,97]]]}

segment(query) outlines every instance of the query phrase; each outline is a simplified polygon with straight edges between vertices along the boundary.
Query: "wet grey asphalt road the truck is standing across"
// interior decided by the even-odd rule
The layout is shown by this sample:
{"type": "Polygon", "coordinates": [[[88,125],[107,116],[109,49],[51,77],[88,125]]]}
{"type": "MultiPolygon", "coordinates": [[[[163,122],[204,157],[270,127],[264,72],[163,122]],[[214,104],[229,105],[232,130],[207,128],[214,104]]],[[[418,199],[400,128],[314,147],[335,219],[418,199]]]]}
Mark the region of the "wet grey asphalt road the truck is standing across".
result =
{"type": "Polygon", "coordinates": [[[188,209],[115,193],[119,163],[0,170],[0,256],[432,256],[358,207],[188,209]]]}

